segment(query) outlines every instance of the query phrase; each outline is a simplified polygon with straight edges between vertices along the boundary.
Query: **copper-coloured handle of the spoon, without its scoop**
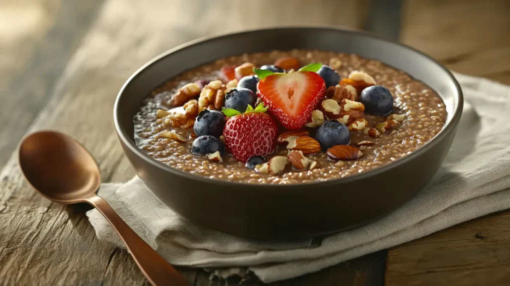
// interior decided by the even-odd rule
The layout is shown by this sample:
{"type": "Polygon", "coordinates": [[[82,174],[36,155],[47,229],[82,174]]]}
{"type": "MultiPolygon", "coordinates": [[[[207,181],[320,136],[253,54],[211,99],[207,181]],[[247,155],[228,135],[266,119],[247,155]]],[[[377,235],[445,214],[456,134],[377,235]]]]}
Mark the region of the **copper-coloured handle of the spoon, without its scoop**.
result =
{"type": "Polygon", "coordinates": [[[189,282],[177,272],[156,250],[143,241],[127,225],[103,198],[95,195],[86,201],[94,206],[110,222],[124,242],[136,264],[152,285],[189,285],[189,282]]]}

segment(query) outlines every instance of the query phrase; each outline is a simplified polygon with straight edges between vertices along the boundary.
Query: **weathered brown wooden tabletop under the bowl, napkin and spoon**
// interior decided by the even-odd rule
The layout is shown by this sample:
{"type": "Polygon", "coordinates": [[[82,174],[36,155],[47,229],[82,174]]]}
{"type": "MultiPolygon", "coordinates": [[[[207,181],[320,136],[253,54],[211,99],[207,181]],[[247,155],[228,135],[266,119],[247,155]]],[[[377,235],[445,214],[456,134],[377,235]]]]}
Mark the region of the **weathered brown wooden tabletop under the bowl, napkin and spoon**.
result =
{"type": "MultiPolygon", "coordinates": [[[[370,16],[369,16],[370,15],[370,16]]],[[[407,0],[400,41],[452,70],[510,84],[510,2],[407,0]]],[[[114,134],[114,98],[140,65],[209,34],[277,24],[362,29],[368,1],[3,0],[0,5],[0,284],[138,285],[126,251],[95,237],[85,206],[23,181],[13,152],[27,132],[58,129],[97,159],[103,180],[134,172],[114,134]]],[[[504,285],[510,211],[272,285],[504,285]]],[[[203,270],[180,268],[195,285],[203,270]]]]}

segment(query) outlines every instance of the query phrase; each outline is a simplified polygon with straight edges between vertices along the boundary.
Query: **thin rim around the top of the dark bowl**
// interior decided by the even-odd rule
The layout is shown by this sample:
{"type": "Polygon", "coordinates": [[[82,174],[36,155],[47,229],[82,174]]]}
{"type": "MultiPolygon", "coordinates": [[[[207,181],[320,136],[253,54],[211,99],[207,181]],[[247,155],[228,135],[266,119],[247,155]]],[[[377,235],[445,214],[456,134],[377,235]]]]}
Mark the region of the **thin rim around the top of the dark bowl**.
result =
{"type": "MultiPolygon", "coordinates": [[[[221,34],[215,34],[215,35],[208,35],[208,36],[205,36],[205,37],[197,38],[197,39],[192,40],[192,41],[188,41],[186,43],[183,43],[183,44],[177,45],[177,46],[175,46],[175,47],[173,47],[171,49],[168,49],[167,51],[164,51],[160,55],[152,58],[147,63],[142,65],[140,68],[138,68],[129,77],[129,79],[127,79],[126,82],[122,85],[122,87],[119,90],[119,92],[118,92],[118,94],[116,96],[116,99],[115,99],[114,108],[113,108],[113,119],[114,119],[115,131],[116,131],[119,139],[124,143],[124,145],[127,146],[134,154],[136,154],[137,157],[141,158],[146,163],[148,163],[148,164],[150,164],[150,165],[152,165],[152,166],[154,166],[156,168],[161,169],[162,171],[170,172],[170,173],[175,174],[177,176],[184,176],[184,177],[186,177],[188,179],[203,181],[203,183],[213,183],[214,182],[217,185],[225,185],[225,186],[231,186],[231,187],[248,187],[248,186],[252,187],[252,186],[257,186],[257,187],[260,187],[260,188],[264,188],[264,187],[273,187],[273,188],[274,187],[278,187],[280,189],[283,189],[283,188],[293,188],[293,187],[297,187],[297,186],[320,187],[320,186],[333,185],[333,184],[339,184],[339,183],[349,183],[349,182],[355,181],[355,180],[361,180],[361,179],[370,178],[370,177],[372,177],[374,175],[377,175],[377,174],[380,174],[380,173],[384,173],[388,169],[396,168],[396,167],[398,167],[400,165],[406,164],[406,163],[414,160],[420,154],[425,153],[428,149],[432,148],[436,144],[439,144],[441,142],[441,140],[444,139],[448,135],[448,133],[452,131],[452,129],[455,129],[455,127],[456,127],[456,125],[457,125],[457,123],[460,120],[460,117],[462,115],[463,103],[464,103],[464,96],[463,96],[463,93],[462,93],[461,86],[457,82],[457,80],[455,79],[455,77],[453,76],[451,71],[449,69],[447,69],[446,67],[444,67],[439,62],[437,62],[432,57],[428,56],[427,54],[423,53],[422,51],[420,51],[418,49],[415,49],[415,48],[413,48],[411,46],[408,46],[408,45],[405,45],[405,44],[402,44],[402,43],[399,43],[399,42],[387,40],[385,38],[382,38],[382,37],[379,37],[377,35],[374,35],[373,33],[370,33],[370,32],[359,31],[359,30],[355,30],[355,29],[352,29],[352,28],[348,28],[348,27],[339,27],[339,26],[334,26],[334,25],[278,25],[278,26],[275,26],[275,27],[265,27],[265,28],[261,28],[261,29],[246,29],[246,30],[241,30],[241,31],[236,31],[236,32],[228,32],[228,33],[221,33],[221,34]],[[227,180],[227,179],[209,178],[209,177],[206,177],[206,176],[201,176],[201,175],[198,175],[198,174],[192,174],[190,172],[182,171],[182,170],[173,168],[171,166],[165,165],[162,162],[159,162],[156,159],[150,157],[147,153],[143,152],[136,145],[135,141],[131,140],[129,135],[127,135],[127,133],[125,132],[125,128],[123,128],[123,125],[120,123],[119,116],[118,116],[119,102],[121,100],[121,97],[124,95],[124,92],[127,89],[127,87],[129,87],[137,79],[137,77],[145,69],[149,68],[151,65],[154,65],[155,63],[157,63],[161,59],[163,59],[163,58],[165,58],[167,56],[172,55],[176,51],[185,49],[185,48],[193,46],[193,45],[197,45],[197,44],[201,44],[201,43],[205,43],[205,42],[209,42],[209,41],[214,41],[214,40],[217,40],[219,38],[235,37],[235,36],[240,35],[240,34],[247,34],[247,33],[252,33],[252,32],[288,30],[288,29],[334,30],[334,31],[342,31],[342,32],[350,33],[350,34],[361,34],[361,35],[366,36],[366,37],[375,38],[375,39],[380,40],[380,41],[384,41],[384,42],[387,42],[387,43],[390,43],[390,44],[401,46],[401,47],[406,48],[406,49],[410,49],[410,50],[414,51],[414,53],[417,53],[417,54],[425,57],[429,61],[432,61],[433,63],[435,63],[439,68],[443,69],[443,71],[445,71],[446,74],[449,76],[449,80],[455,86],[456,96],[457,96],[458,100],[457,100],[456,110],[453,113],[453,116],[451,117],[451,120],[449,122],[447,122],[443,126],[443,129],[441,129],[441,131],[436,136],[432,137],[427,143],[425,143],[423,146],[421,146],[417,150],[413,151],[411,154],[405,156],[404,158],[400,158],[400,159],[398,159],[398,160],[396,160],[394,162],[388,163],[388,164],[386,164],[384,166],[381,166],[381,167],[378,167],[378,168],[375,168],[375,169],[372,169],[372,170],[369,170],[369,171],[366,171],[366,172],[349,175],[347,177],[339,177],[339,178],[327,179],[327,180],[316,180],[316,181],[304,182],[304,183],[301,182],[301,183],[295,183],[295,184],[258,184],[258,183],[257,184],[252,184],[252,183],[246,183],[246,182],[240,182],[240,181],[231,181],[231,180],[227,180]]],[[[124,152],[125,152],[125,150],[124,150],[124,152]]]]}

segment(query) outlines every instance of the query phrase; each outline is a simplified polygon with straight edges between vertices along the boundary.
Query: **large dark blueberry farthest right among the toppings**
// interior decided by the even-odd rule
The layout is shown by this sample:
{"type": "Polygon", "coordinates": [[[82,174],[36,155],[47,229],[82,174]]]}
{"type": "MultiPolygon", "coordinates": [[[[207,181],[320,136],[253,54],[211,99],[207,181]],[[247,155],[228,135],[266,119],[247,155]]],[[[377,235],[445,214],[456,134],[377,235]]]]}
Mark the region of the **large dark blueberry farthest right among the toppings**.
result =
{"type": "Polygon", "coordinates": [[[365,112],[371,115],[387,116],[393,112],[393,96],[382,86],[369,86],[361,92],[360,101],[365,112]]]}

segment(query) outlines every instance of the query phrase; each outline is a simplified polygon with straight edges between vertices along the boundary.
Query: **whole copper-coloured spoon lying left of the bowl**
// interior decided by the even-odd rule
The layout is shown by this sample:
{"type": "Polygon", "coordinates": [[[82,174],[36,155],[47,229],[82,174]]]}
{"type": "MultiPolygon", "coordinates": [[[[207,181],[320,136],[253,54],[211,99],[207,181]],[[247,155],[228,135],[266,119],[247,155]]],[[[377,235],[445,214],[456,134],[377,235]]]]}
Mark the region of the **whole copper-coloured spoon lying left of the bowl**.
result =
{"type": "Polygon", "coordinates": [[[103,214],[152,285],[189,285],[96,194],[101,181],[99,167],[80,143],[58,132],[33,133],[19,146],[19,165],[44,197],[64,204],[86,202],[103,214]]]}

